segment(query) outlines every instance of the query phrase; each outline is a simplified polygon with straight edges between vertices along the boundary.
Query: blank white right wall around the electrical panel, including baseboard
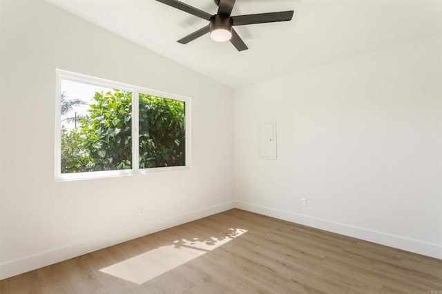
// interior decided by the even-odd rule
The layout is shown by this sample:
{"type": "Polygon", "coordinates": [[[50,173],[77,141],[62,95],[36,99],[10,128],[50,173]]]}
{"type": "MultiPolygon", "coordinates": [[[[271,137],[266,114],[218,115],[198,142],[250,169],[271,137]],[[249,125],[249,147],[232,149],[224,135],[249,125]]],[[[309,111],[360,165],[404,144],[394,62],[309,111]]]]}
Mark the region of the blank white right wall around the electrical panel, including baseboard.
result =
{"type": "Polygon", "coordinates": [[[237,206],[442,258],[441,40],[236,90],[237,206]],[[271,119],[278,159],[260,160],[271,119]]]}

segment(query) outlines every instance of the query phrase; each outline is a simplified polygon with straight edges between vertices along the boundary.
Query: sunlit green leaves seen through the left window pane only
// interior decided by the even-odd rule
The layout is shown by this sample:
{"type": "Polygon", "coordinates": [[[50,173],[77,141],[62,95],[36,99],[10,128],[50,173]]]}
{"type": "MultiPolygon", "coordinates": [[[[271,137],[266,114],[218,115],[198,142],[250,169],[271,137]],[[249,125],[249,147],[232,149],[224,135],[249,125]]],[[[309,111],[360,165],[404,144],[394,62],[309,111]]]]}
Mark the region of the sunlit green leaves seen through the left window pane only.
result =
{"type": "Polygon", "coordinates": [[[78,135],[77,140],[66,140],[66,144],[87,150],[88,162],[84,164],[79,157],[71,154],[70,164],[65,164],[64,171],[73,173],[131,168],[132,92],[95,92],[93,100],[95,103],[90,104],[88,115],[80,121],[79,128],[73,130],[78,135]]]}

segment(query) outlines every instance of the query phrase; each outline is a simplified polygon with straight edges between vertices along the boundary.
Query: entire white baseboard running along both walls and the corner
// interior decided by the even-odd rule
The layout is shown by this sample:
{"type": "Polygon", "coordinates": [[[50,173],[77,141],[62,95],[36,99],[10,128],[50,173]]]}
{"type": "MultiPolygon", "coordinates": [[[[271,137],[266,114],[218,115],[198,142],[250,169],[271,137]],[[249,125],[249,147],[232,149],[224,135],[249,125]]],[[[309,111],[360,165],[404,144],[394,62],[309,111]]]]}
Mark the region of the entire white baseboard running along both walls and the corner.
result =
{"type": "Polygon", "coordinates": [[[396,235],[390,235],[387,233],[381,233],[376,231],[367,230],[365,228],[358,228],[356,226],[349,226],[347,224],[340,224],[336,222],[330,222],[325,219],[318,219],[315,217],[308,217],[307,215],[299,215],[291,213],[289,211],[278,210],[265,206],[259,206],[256,204],[249,204],[246,202],[227,202],[216,206],[207,207],[201,210],[192,211],[191,213],[185,213],[183,215],[177,215],[168,219],[162,219],[158,222],[151,222],[129,228],[124,231],[111,233],[108,235],[102,235],[93,239],[87,239],[68,246],[55,248],[50,251],[37,253],[20,259],[15,259],[9,262],[0,264],[0,280],[12,277],[13,275],[19,275],[32,271],[43,266],[62,262],[66,259],[84,255],[93,251],[97,251],[108,246],[113,246],[122,242],[126,242],[137,237],[142,237],[157,231],[162,231],[166,228],[171,228],[186,222],[191,222],[195,219],[200,219],[215,213],[220,213],[231,208],[240,208],[250,211],[252,213],[259,213],[261,215],[267,215],[269,217],[275,217],[277,219],[284,219],[288,222],[294,222],[296,224],[303,224],[305,226],[311,226],[314,228],[320,228],[325,231],[346,235],[349,237],[355,237],[363,239],[369,242],[377,244],[383,244],[385,246],[391,246],[394,248],[403,249],[413,253],[421,255],[427,255],[442,259],[442,246],[438,244],[431,244],[427,242],[421,242],[414,239],[407,239],[396,235]]]}

